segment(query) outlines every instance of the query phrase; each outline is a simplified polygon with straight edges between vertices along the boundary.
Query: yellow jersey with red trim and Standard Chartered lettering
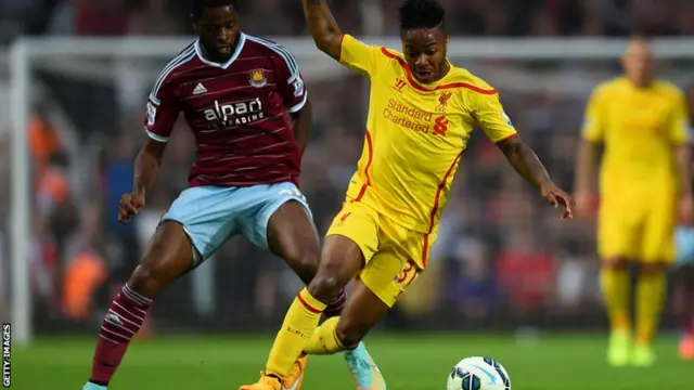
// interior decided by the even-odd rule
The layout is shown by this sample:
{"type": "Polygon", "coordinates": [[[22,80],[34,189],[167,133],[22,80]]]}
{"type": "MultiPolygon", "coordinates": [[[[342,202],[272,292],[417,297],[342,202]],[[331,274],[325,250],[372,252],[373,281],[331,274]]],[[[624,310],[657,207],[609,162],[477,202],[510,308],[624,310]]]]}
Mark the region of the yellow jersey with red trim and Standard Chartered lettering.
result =
{"type": "Polygon", "coordinates": [[[365,142],[347,199],[432,233],[473,129],[492,142],[516,134],[497,91],[452,65],[441,80],[421,84],[401,53],[349,35],[339,62],[371,79],[365,142]]]}

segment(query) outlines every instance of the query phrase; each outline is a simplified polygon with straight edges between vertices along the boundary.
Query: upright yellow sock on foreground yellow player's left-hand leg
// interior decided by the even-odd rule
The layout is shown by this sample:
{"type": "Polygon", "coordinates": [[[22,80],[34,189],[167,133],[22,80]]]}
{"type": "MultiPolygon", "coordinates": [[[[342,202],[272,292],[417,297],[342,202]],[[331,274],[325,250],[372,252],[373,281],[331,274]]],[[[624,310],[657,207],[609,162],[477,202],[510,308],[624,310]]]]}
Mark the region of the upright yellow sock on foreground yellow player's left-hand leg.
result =
{"type": "Polygon", "coordinates": [[[294,361],[304,351],[310,335],[316,330],[323,310],[325,304],[313,298],[306,288],[299,292],[286,312],[282,328],[274,339],[266,374],[280,378],[287,375],[294,361]]]}

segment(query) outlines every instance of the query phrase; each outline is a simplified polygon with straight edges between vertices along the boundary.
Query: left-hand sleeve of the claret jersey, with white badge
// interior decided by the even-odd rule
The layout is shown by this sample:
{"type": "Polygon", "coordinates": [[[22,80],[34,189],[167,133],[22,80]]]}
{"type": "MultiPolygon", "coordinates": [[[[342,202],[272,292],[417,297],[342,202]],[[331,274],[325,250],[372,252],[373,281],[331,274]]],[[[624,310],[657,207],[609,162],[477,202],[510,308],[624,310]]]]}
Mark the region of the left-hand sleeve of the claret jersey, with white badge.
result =
{"type": "Polygon", "coordinates": [[[176,86],[162,74],[154,83],[147,99],[144,129],[147,135],[158,142],[167,142],[180,112],[179,100],[176,96],[176,86]]]}

